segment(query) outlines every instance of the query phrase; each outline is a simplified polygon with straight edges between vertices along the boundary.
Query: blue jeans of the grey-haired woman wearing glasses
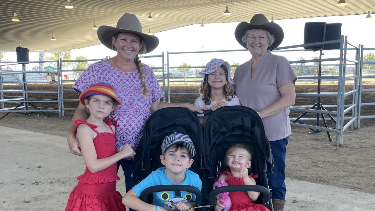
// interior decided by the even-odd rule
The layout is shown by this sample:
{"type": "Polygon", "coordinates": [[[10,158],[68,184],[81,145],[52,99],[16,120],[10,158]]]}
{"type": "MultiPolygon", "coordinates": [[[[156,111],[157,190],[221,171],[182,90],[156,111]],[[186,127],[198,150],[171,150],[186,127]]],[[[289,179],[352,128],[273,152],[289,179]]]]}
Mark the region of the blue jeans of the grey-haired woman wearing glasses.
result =
{"type": "Polygon", "coordinates": [[[270,142],[273,155],[273,173],[268,175],[268,182],[274,199],[285,199],[287,188],[285,187],[285,154],[289,136],[270,142]]]}

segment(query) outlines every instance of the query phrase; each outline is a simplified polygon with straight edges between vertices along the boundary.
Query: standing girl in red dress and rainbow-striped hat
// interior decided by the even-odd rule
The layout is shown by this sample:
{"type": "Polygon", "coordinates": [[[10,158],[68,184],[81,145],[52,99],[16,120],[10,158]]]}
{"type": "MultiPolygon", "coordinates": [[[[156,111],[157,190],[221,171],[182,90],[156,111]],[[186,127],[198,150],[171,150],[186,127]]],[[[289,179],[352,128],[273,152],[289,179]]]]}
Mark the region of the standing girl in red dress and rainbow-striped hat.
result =
{"type": "Polygon", "coordinates": [[[113,86],[99,82],[92,84],[80,95],[81,103],[90,110],[86,120],[74,123],[80,143],[86,171],[78,176],[78,184],[69,195],[66,211],[124,211],[122,196],[116,191],[116,163],[126,157],[134,157],[135,152],[128,145],[115,148],[115,128],[113,119],[105,119],[122,102],[116,97],[113,86]]]}

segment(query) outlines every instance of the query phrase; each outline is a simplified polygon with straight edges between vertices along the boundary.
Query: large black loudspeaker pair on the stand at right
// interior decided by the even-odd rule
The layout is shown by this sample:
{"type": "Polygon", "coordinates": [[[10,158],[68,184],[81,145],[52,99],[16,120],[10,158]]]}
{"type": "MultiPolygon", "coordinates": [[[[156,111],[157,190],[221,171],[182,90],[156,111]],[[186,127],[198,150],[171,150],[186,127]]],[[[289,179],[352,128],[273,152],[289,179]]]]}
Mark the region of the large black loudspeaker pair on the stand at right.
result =
{"type": "MultiPolygon", "coordinates": [[[[303,44],[340,39],[341,23],[308,22],[305,23],[303,44]]],[[[340,43],[303,47],[311,50],[332,50],[340,48],[340,43]]]]}

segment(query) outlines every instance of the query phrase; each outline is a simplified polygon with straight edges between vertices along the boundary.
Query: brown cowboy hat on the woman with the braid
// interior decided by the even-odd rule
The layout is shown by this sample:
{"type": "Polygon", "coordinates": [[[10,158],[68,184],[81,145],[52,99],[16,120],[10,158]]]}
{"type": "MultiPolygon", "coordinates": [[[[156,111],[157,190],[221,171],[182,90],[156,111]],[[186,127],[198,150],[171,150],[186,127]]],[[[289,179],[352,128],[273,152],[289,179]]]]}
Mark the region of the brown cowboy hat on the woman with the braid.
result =
{"type": "Polygon", "coordinates": [[[159,45],[159,39],[153,35],[142,33],[142,25],[134,14],[125,13],[117,21],[116,27],[100,26],[98,29],[98,38],[105,47],[112,49],[112,37],[119,32],[135,33],[142,37],[146,45],[146,53],[153,51],[159,45]]]}

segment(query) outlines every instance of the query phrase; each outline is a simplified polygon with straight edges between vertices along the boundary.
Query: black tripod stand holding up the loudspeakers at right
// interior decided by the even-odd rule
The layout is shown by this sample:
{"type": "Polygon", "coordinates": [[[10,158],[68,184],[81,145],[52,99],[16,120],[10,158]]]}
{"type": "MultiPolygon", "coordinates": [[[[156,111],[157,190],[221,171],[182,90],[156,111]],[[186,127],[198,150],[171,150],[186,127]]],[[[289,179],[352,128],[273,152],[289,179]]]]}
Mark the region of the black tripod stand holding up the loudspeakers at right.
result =
{"type": "MultiPolygon", "coordinates": [[[[324,55],[322,53],[322,49],[320,49],[320,55],[319,55],[319,71],[318,71],[318,76],[320,77],[322,75],[322,62],[321,62],[321,59],[322,59],[322,55],[324,55]]],[[[321,87],[321,79],[319,78],[318,79],[318,94],[320,94],[320,87],[321,87]]],[[[320,102],[320,96],[317,97],[317,102],[312,106],[310,107],[309,109],[314,109],[315,107],[317,107],[317,110],[323,110],[323,111],[327,111],[327,109],[323,106],[323,104],[320,102]]],[[[301,124],[305,124],[305,122],[301,121],[300,118],[302,118],[303,116],[305,116],[307,113],[309,112],[304,112],[302,115],[300,115],[299,117],[297,117],[293,122],[300,122],[301,124]]],[[[328,128],[328,125],[330,125],[332,122],[335,122],[335,124],[337,123],[336,120],[333,118],[332,115],[328,114],[328,116],[330,117],[330,120],[328,122],[326,122],[326,119],[324,118],[324,114],[323,113],[317,113],[317,126],[318,127],[325,127],[325,128],[328,128]],[[320,117],[322,117],[323,119],[323,125],[320,126],[320,117]]],[[[309,133],[320,133],[322,130],[315,130],[315,129],[311,129],[312,132],[309,132],[309,133]]],[[[331,138],[331,134],[329,133],[329,131],[327,131],[327,135],[328,135],[328,139],[330,142],[332,142],[332,138],[331,138]]]]}

